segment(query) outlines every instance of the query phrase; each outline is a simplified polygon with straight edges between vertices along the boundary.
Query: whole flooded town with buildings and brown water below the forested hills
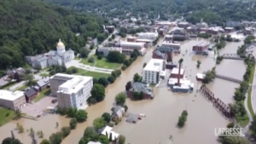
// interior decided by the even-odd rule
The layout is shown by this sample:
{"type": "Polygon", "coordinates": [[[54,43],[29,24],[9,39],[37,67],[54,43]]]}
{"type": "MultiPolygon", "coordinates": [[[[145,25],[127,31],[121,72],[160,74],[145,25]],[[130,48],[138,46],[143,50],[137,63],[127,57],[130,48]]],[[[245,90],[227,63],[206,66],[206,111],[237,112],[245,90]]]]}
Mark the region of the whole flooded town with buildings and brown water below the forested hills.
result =
{"type": "Polygon", "coordinates": [[[101,24],[83,48],[58,35],[0,62],[2,144],[255,143],[255,21],[101,24]]]}

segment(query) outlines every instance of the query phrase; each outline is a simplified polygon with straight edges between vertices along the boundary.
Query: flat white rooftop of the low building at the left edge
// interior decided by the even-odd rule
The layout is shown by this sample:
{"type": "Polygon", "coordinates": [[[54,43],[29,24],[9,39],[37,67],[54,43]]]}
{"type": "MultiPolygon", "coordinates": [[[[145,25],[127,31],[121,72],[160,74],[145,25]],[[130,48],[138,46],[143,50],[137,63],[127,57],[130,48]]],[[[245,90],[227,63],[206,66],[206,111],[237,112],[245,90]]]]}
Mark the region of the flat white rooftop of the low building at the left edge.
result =
{"type": "Polygon", "coordinates": [[[24,96],[24,93],[22,91],[9,91],[9,90],[2,90],[0,89],[0,99],[6,100],[6,101],[15,101],[16,99],[20,98],[21,96],[24,96]]]}

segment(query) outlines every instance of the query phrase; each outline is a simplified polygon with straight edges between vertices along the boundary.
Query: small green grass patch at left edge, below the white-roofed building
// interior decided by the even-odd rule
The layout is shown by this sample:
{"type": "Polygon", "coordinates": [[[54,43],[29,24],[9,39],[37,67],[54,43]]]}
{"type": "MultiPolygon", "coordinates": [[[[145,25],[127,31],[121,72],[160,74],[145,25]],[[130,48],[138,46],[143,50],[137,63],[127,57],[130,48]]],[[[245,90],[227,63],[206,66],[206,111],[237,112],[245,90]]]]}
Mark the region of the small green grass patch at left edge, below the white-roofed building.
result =
{"type": "Polygon", "coordinates": [[[16,118],[14,111],[0,107],[0,126],[7,124],[12,119],[16,118]]]}

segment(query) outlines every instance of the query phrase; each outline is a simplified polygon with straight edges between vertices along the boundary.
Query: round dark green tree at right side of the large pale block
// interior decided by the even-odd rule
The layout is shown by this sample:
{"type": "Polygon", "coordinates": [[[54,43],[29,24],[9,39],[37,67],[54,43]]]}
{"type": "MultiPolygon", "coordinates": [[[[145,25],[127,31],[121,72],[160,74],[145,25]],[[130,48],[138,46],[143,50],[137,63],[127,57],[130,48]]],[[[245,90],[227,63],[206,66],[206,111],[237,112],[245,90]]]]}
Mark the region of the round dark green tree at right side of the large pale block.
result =
{"type": "Polygon", "coordinates": [[[105,88],[102,84],[94,84],[90,90],[91,98],[96,101],[103,101],[105,98],[105,88]]]}

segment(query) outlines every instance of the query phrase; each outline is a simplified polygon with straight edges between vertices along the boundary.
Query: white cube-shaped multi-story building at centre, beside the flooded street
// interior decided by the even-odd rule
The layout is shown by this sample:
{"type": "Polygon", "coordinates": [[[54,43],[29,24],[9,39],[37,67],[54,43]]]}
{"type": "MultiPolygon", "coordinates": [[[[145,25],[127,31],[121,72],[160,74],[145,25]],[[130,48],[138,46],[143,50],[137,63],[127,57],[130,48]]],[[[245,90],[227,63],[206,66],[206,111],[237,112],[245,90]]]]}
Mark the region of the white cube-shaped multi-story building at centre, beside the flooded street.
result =
{"type": "Polygon", "coordinates": [[[160,78],[166,76],[166,60],[151,59],[143,68],[143,82],[147,84],[158,84],[160,78]]]}

